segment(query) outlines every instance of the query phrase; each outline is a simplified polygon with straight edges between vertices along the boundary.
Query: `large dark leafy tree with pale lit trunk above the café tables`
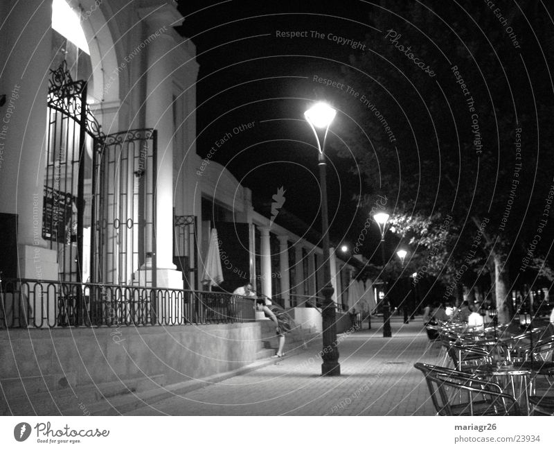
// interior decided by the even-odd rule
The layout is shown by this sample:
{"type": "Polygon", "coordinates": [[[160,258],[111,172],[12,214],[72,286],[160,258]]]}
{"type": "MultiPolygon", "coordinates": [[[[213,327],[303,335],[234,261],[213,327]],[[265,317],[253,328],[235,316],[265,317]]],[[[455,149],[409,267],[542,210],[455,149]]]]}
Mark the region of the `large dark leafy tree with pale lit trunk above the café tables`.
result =
{"type": "Polygon", "coordinates": [[[533,264],[551,272],[554,47],[542,3],[522,8],[382,1],[368,17],[382,33],[343,70],[359,95],[337,98],[357,122],[341,139],[366,178],[362,205],[393,199],[397,231],[433,253],[446,288],[489,273],[501,322],[510,268],[513,282],[533,264]]]}

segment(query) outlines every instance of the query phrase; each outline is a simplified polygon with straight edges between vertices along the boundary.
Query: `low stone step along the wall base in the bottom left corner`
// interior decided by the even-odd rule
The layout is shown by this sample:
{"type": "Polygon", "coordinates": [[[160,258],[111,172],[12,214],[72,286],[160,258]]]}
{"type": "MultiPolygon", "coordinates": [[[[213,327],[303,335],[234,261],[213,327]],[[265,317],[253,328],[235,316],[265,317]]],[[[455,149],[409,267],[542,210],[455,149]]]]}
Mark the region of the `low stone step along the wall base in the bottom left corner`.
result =
{"type": "Polygon", "coordinates": [[[6,398],[0,399],[0,415],[60,415],[64,410],[80,411],[87,415],[87,405],[107,401],[136,392],[145,392],[166,385],[166,375],[138,378],[96,386],[75,386],[27,395],[14,395],[4,390],[6,398]]]}

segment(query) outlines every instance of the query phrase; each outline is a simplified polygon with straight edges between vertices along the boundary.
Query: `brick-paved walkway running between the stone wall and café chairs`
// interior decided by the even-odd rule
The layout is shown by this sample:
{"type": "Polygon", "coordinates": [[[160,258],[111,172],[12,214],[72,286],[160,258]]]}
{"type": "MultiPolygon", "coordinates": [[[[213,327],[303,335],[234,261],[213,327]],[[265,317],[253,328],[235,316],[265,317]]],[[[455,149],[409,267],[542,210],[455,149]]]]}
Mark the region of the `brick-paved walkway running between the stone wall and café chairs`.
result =
{"type": "MultiPolygon", "coordinates": [[[[127,415],[434,415],[417,361],[438,363],[420,318],[394,318],[393,337],[373,329],[339,335],[341,377],[320,377],[321,338],[310,348],[253,372],[127,415]]],[[[364,323],[364,327],[367,324],[364,323]]]]}

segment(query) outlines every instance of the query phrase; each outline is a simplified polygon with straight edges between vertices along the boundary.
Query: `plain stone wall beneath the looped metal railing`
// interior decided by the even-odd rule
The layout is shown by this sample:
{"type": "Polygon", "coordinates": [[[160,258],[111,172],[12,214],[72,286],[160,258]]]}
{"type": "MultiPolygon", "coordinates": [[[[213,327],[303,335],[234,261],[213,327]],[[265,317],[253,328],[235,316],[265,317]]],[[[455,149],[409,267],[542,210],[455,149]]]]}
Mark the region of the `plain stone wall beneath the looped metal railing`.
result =
{"type": "Polygon", "coordinates": [[[159,375],[166,384],[202,379],[256,361],[260,338],[256,323],[2,330],[0,383],[22,390],[23,379],[44,392],[159,375]]]}

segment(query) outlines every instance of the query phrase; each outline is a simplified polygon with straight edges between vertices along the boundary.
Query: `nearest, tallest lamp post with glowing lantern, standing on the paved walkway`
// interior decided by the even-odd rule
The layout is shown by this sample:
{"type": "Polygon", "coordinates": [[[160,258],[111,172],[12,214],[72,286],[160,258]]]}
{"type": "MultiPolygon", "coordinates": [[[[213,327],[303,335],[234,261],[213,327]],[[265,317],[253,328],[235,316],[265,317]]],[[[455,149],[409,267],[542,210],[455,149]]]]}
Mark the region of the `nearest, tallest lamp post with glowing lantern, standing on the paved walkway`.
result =
{"type": "Polygon", "coordinates": [[[332,377],[341,374],[339,364],[339,349],[337,347],[337,321],[335,319],[335,306],[332,301],[333,287],[331,284],[331,260],[329,255],[329,221],[327,211],[327,162],[325,159],[325,141],[329,126],[337,111],[325,103],[316,103],[304,113],[307,123],[310,124],[316,136],[319,150],[319,183],[321,186],[321,232],[323,233],[323,305],[321,315],[323,318],[323,352],[321,358],[321,374],[332,377]],[[318,133],[318,129],[320,132],[318,133]],[[324,130],[324,131],[323,131],[324,130]]]}

